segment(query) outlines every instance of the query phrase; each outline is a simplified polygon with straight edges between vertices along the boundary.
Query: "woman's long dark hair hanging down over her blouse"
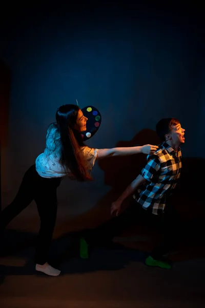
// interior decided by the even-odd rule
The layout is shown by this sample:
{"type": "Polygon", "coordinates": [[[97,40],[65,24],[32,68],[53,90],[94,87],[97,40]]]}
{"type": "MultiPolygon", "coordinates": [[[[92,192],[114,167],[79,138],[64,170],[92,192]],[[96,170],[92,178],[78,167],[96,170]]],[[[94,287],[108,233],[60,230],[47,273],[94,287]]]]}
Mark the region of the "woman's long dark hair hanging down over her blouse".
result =
{"type": "Polygon", "coordinates": [[[78,111],[80,108],[76,105],[60,106],[55,114],[58,131],[61,141],[60,163],[66,171],[72,172],[72,175],[80,182],[92,180],[86,167],[86,159],[81,151],[85,146],[80,136],[80,132],[75,129],[78,111]]]}

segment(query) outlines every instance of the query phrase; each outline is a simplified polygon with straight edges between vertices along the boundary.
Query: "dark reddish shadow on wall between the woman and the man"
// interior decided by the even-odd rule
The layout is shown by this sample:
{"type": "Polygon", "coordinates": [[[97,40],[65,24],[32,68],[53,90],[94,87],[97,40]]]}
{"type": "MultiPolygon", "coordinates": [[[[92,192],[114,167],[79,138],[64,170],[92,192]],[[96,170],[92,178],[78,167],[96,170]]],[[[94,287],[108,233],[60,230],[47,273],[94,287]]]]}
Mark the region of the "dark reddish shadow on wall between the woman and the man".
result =
{"type": "MultiPolygon", "coordinates": [[[[116,147],[129,147],[144,144],[159,144],[160,140],[156,132],[151,129],[143,129],[130,141],[119,141],[116,147]]],[[[95,207],[86,213],[79,215],[69,222],[72,231],[82,228],[96,227],[100,223],[110,219],[110,206],[121,192],[138,176],[142,167],[146,164],[146,155],[136,154],[129,157],[111,157],[98,161],[100,169],[105,172],[105,184],[111,186],[110,191],[101,198],[95,207]]],[[[130,203],[127,198],[122,205],[126,208],[130,203]]],[[[65,227],[66,228],[66,227],[65,227]]]]}

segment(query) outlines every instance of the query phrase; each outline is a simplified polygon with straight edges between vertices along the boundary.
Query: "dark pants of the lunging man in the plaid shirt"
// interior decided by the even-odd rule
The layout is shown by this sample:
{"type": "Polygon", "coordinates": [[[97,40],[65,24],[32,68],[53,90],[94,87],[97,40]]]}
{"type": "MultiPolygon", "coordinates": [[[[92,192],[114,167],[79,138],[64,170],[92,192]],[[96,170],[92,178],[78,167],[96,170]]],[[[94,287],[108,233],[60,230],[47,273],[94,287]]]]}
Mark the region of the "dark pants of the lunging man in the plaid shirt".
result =
{"type": "Polygon", "coordinates": [[[98,244],[106,246],[114,236],[119,235],[129,225],[137,225],[141,221],[145,221],[151,228],[157,228],[163,236],[163,240],[151,252],[154,259],[160,259],[178,243],[181,235],[181,218],[170,203],[162,215],[154,215],[134,200],[118,217],[111,218],[95,229],[84,230],[83,236],[91,247],[98,244]]]}

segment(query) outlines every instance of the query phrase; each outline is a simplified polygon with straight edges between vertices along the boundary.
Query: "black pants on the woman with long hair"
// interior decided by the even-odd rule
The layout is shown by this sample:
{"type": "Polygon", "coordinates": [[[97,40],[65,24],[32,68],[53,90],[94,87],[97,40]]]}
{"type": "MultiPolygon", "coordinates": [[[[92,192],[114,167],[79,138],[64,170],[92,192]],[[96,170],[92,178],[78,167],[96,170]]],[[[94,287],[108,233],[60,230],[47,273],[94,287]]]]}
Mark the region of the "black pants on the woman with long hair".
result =
{"type": "Polygon", "coordinates": [[[42,178],[35,165],[25,173],[22,184],[13,202],[0,214],[0,228],[4,230],[8,223],[35,200],[40,217],[40,230],[37,238],[35,262],[45,264],[52,241],[57,214],[56,189],[61,178],[42,178]]]}

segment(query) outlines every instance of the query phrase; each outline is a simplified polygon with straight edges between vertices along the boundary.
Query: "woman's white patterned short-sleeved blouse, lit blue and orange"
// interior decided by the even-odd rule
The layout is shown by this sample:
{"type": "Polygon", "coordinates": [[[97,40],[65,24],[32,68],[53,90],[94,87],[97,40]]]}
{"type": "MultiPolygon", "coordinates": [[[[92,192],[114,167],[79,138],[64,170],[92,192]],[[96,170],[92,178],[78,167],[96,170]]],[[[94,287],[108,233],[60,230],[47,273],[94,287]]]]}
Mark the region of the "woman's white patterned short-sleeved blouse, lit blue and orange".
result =
{"type": "MultiPolygon", "coordinates": [[[[98,149],[90,148],[88,146],[81,147],[87,161],[87,168],[89,170],[94,166],[98,149]]],[[[61,155],[61,141],[55,123],[51,124],[47,130],[46,148],[35,161],[36,171],[39,176],[43,178],[60,178],[60,177],[73,177],[72,173],[66,172],[63,165],[60,164],[61,155]]]]}

